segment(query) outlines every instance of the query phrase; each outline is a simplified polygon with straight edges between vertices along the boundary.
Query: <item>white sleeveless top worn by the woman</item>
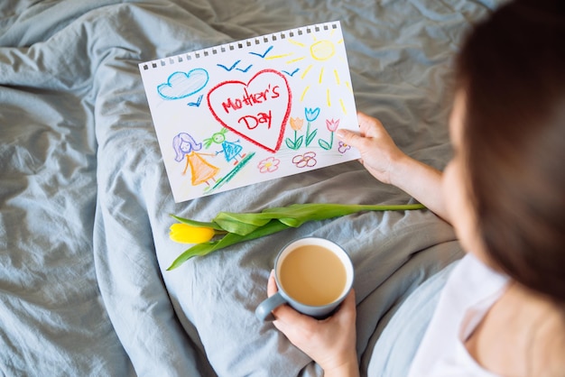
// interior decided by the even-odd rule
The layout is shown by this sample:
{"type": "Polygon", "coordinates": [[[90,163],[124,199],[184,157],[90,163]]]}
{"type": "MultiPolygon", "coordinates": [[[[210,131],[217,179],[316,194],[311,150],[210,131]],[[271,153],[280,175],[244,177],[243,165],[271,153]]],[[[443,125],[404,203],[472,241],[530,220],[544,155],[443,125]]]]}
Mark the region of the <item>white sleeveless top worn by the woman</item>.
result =
{"type": "Polygon", "coordinates": [[[466,255],[441,292],[409,376],[494,377],[468,354],[465,340],[504,293],[508,278],[466,255]]]}

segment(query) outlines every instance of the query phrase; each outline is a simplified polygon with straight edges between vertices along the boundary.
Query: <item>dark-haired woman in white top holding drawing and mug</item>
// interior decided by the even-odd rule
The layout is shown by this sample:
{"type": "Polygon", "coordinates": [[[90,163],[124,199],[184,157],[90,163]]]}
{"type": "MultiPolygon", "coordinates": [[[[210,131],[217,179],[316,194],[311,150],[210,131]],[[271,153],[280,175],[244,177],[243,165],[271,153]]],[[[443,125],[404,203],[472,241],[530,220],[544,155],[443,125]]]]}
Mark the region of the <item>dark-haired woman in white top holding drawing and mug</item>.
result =
{"type": "MultiPolygon", "coordinates": [[[[443,173],[403,154],[367,115],[360,134],[338,131],[376,179],[452,224],[468,251],[412,376],[565,375],[564,5],[510,3],[471,33],[458,55],[454,155],[443,173]]],[[[323,321],[286,306],[273,315],[326,376],[358,375],[354,293],[323,321]]]]}

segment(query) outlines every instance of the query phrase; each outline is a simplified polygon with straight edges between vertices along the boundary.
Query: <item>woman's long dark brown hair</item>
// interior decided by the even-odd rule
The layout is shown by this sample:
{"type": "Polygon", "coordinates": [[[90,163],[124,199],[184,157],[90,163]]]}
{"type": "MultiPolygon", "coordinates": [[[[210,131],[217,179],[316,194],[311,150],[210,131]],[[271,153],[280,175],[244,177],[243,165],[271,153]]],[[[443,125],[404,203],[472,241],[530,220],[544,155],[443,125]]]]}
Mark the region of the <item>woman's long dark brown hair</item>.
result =
{"type": "Polygon", "coordinates": [[[565,306],[565,1],[516,1],[457,60],[463,151],[486,253],[565,306]]]}

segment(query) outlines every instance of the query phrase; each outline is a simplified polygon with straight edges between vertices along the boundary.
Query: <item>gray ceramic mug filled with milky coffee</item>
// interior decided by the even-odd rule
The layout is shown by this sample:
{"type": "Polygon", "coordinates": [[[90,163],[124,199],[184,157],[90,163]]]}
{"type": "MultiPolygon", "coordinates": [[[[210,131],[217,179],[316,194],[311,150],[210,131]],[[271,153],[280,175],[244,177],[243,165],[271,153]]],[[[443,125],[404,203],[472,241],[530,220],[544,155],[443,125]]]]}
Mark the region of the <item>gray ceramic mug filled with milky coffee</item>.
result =
{"type": "Polygon", "coordinates": [[[347,297],[355,272],[349,255],[333,242],[306,237],[287,244],[274,262],[278,292],[255,309],[262,321],[288,304],[311,317],[328,317],[347,297]]]}

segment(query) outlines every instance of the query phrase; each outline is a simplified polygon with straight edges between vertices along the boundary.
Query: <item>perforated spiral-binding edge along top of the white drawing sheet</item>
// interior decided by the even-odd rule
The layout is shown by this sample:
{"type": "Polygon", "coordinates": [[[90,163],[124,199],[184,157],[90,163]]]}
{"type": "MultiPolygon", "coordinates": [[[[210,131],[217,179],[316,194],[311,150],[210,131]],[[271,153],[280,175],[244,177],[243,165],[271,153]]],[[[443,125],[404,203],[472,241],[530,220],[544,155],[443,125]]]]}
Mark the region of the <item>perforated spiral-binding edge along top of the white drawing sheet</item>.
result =
{"type": "Polygon", "coordinates": [[[144,70],[147,69],[157,69],[160,67],[165,67],[167,65],[172,65],[175,63],[184,62],[184,60],[199,60],[210,55],[218,55],[225,53],[227,51],[241,50],[253,45],[260,45],[262,43],[269,43],[271,41],[277,41],[279,38],[284,40],[286,38],[293,38],[295,35],[303,35],[304,33],[310,34],[312,32],[329,31],[333,29],[338,29],[339,21],[329,22],[329,23],[316,23],[309,26],[302,26],[296,29],[290,29],[283,32],[273,32],[271,34],[265,34],[259,37],[252,37],[241,41],[232,41],[225,44],[220,44],[218,46],[209,47],[207,49],[202,49],[199,51],[192,51],[183,53],[176,56],[171,56],[169,58],[164,58],[160,60],[152,60],[145,63],[141,63],[140,67],[144,70]]]}

